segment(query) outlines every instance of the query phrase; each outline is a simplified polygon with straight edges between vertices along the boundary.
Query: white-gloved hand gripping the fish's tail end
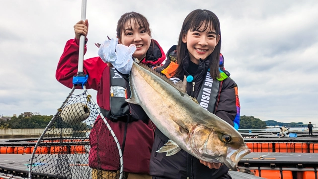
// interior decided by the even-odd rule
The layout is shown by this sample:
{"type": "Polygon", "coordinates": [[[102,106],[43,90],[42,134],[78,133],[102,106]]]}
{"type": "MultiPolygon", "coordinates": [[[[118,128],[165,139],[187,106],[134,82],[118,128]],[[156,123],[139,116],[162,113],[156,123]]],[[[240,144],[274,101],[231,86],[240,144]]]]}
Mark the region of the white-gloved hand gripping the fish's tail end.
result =
{"type": "Polygon", "coordinates": [[[105,62],[110,62],[117,71],[122,74],[129,74],[133,66],[132,55],[136,51],[136,46],[131,44],[129,47],[118,44],[118,39],[106,40],[100,45],[98,55],[105,62]]]}

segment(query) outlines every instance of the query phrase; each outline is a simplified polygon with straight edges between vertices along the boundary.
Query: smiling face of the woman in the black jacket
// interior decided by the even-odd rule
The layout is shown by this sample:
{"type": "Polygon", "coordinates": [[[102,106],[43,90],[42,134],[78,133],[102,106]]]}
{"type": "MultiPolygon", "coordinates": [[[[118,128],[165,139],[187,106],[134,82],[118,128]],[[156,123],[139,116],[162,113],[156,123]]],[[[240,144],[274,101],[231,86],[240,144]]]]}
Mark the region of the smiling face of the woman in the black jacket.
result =
{"type": "Polygon", "coordinates": [[[204,30],[204,26],[205,24],[202,24],[201,28],[194,31],[189,29],[182,36],[182,42],[187,45],[190,60],[195,64],[199,64],[200,59],[205,60],[213,52],[220,40],[220,35],[217,35],[212,30],[214,28],[211,27],[204,30]]]}

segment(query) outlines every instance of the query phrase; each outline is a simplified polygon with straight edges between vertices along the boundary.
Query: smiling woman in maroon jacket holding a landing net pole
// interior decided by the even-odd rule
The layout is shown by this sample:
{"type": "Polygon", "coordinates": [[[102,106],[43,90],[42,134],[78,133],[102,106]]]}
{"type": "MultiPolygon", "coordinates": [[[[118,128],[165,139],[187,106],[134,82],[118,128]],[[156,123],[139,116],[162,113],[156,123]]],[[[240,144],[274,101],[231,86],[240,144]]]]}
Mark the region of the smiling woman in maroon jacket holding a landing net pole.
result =
{"type": "MultiPolygon", "coordinates": [[[[73,76],[78,70],[79,36],[87,35],[88,21],[79,21],[74,26],[75,39],[67,41],[64,52],[58,63],[56,79],[72,88],[73,76]]],[[[151,39],[151,30],[148,20],[137,12],[123,14],[117,24],[118,42],[129,46],[135,44],[137,50],[133,57],[149,66],[160,65],[165,60],[165,54],[158,42],[151,39]]],[[[87,42],[87,38],[85,43],[87,42]]],[[[86,52],[86,46],[85,46],[86,52]]],[[[139,106],[128,104],[124,98],[111,95],[113,83],[124,84],[122,87],[130,91],[127,83],[109,67],[100,57],[89,58],[83,62],[83,72],[88,75],[87,89],[97,90],[97,104],[101,112],[117,136],[122,146],[124,171],[128,179],[151,179],[149,176],[149,162],[154,142],[154,127],[149,118],[140,118],[137,114],[132,116],[130,110],[139,106]],[[119,80],[119,81],[118,81],[119,80]]],[[[112,93],[113,94],[113,93],[112,93]]],[[[92,178],[117,179],[119,166],[112,156],[116,153],[113,141],[105,141],[109,136],[106,125],[100,117],[97,117],[90,133],[89,166],[93,169],[92,178]],[[116,172],[117,171],[117,172],[116,172]]],[[[117,150],[118,153],[118,150],[117,150]]],[[[117,154],[118,155],[118,154],[117,154]]]]}

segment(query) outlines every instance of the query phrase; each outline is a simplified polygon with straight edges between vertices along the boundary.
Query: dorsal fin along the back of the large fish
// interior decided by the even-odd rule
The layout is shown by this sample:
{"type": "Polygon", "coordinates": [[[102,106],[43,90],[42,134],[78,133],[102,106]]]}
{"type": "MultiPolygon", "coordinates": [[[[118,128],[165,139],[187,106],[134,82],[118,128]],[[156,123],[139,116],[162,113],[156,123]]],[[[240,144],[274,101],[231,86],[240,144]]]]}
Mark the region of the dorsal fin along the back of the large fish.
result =
{"type": "Polygon", "coordinates": [[[172,87],[178,89],[181,92],[187,93],[186,92],[186,87],[187,87],[187,80],[186,77],[184,76],[183,82],[180,80],[177,83],[173,83],[173,81],[169,80],[168,78],[166,78],[164,75],[161,75],[159,72],[155,71],[154,69],[148,67],[145,64],[142,63],[136,63],[134,62],[136,65],[139,65],[145,69],[147,69],[148,71],[152,72],[153,74],[155,74],[156,76],[158,76],[159,78],[161,78],[162,80],[164,80],[166,83],[170,84],[172,87]]]}

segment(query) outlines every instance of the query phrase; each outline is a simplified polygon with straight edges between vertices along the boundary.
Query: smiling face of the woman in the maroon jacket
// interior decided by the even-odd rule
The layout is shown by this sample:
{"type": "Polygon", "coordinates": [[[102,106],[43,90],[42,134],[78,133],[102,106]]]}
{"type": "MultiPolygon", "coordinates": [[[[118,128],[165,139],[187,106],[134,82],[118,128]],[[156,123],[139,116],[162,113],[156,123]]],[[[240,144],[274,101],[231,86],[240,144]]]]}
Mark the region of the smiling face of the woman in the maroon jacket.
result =
{"type": "Polygon", "coordinates": [[[142,60],[150,47],[151,37],[145,27],[140,26],[135,19],[130,19],[125,23],[118,42],[126,46],[136,45],[133,57],[142,60]]]}

